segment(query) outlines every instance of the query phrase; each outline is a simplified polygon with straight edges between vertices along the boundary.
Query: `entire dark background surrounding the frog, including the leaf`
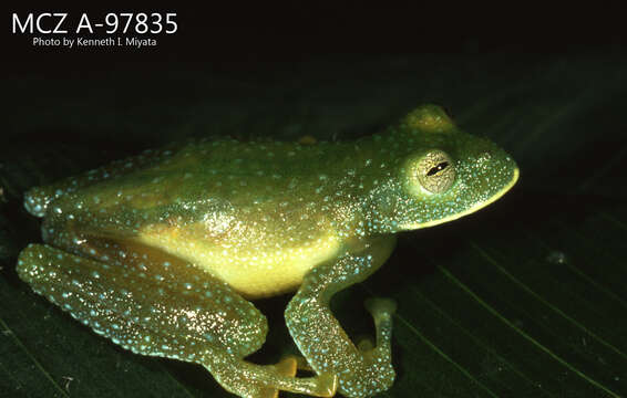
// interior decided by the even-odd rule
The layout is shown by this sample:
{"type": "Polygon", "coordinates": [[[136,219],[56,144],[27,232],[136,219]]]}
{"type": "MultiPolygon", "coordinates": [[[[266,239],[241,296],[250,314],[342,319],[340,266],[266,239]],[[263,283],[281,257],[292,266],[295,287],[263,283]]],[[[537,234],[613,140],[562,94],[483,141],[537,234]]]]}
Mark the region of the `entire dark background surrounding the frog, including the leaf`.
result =
{"type": "MultiPolygon", "coordinates": [[[[134,11],[129,6],[11,12],[134,11]]],[[[398,379],[383,397],[627,392],[627,59],[617,4],[178,3],[147,49],[33,48],[4,34],[0,133],[0,396],[226,397],[199,367],[132,355],[19,281],[39,242],[23,192],[192,136],[350,139],[436,103],[504,147],[521,181],[490,208],[401,235],[333,310],[399,302],[398,379]]],[[[75,25],[72,23],[72,25],[75,25]]],[[[8,32],[9,29],[6,30],[8,32]]],[[[281,316],[253,359],[295,352],[281,316]]]]}

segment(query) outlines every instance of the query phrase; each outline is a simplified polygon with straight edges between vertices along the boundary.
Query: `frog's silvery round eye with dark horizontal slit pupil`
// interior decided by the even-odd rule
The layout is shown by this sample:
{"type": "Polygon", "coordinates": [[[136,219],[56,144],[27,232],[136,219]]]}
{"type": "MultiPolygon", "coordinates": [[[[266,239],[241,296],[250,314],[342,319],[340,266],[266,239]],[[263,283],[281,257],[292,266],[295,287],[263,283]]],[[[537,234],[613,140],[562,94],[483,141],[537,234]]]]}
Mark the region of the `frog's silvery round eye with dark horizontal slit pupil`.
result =
{"type": "Polygon", "coordinates": [[[420,185],[432,193],[445,192],[455,180],[453,161],[442,150],[432,150],[418,161],[415,169],[420,185]]]}

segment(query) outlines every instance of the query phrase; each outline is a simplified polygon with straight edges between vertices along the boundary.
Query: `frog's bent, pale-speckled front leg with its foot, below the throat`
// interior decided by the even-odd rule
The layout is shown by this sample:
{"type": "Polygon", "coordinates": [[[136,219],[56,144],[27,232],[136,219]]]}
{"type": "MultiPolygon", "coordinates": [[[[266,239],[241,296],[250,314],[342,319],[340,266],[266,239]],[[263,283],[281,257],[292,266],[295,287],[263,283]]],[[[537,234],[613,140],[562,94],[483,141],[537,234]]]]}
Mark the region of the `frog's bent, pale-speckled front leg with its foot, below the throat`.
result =
{"type": "Polygon", "coordinates": [[[377,238],[335,263],[311,270],[286,310],[289,332],[307,362],[318,374],[338,375],[338,390],[348,397],[372,396],[394,380],[390,339],[395,305],[391,300],[367,302],[377,327],[377,346],[362,350],[333,317],[329,302],[338,291],[374,272],[394,243],[393,237],[377,238]]]}

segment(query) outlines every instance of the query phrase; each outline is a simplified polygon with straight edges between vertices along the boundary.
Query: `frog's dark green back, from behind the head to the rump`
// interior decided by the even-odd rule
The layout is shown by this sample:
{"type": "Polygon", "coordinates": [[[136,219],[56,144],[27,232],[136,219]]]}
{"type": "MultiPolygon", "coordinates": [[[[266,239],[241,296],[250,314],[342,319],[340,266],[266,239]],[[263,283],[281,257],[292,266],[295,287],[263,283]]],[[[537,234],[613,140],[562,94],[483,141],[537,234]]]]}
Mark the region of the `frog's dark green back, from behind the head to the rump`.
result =
{"type": "MultiPolygon", "coordinates": [[[[140,192],[143,199],[135,206],[143,208],[155,205],[147,198],[172,201],[178,193],[187,199],[210,196],[246,202],[254,192],[266,190],[280,196],[285,189],[294,189],[296,184],[307,179],[307,186],[319,188],[331,181],[331,177],[337,179],[342,164],[350,164],[349,168],[354,169],[356,149],[359,151],[359,146],[345,143],[301,145],[202,139],[150,149],[81,176],[37,187],[27,192],[24,206],[33,216],[44,217],[51,202],[76,193],[85,198],[97,196],[96,205],[103,208],[109,206],[103,202],[107,193],[120,197],[119,191],[140,192]],[[327,181],[326,177],[329,177],[327,181]]],[[[304,188],[299,186],[301,191],[304,188]]],[[[119,202],[119,198],[111,200],[111,203],[119,202]]]]}

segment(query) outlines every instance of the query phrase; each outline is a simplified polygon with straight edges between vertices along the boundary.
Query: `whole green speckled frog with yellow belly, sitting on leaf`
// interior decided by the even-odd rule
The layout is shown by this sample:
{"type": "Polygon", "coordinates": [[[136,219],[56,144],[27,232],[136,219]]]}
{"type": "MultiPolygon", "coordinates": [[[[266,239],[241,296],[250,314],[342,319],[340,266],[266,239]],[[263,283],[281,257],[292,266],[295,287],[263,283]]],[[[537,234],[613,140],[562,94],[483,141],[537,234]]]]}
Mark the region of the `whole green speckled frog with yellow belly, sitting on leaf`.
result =
{"type": "Polygon", "coordinates": [[[436,105],[352,140],[173,144],[30,189],[43,243],[17,271],[96,334],[199,364],[236,396],[370,397],[395,378],[397,304],[369,298],[374,338],[356,344],[332,296],[379,270],[399,233],[473,213],[518,174],[436,105]],[[286,293],[300,355],[248,360],[268,332],[254,301],[286,293]]]}

